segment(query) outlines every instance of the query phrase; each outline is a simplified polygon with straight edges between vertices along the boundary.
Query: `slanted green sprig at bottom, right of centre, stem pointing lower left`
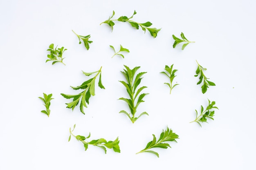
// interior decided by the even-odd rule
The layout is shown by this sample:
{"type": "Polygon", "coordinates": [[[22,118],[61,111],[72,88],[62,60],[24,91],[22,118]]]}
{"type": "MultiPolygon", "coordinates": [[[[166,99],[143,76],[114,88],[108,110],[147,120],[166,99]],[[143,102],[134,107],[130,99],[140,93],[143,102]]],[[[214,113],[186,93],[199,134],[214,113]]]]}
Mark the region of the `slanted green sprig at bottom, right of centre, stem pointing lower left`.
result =
{"type": "Polygon", "coordinates": [[[137,152],[136,154],[142,153],[142,152],[149,152],[149,153],[153,153],[153,154],[157,155],[157,157],[159,157],[159,154],[157,152],[155,152],[153,150],[149,150],[149,149],[152,149],[152,148],[167,149],[168,147],[171,148],[171,146],[169,144],[163,143],[163,142],[166,142],[166,141],[177,142],[175,139],[179,139],[179,136],[177,134],[173,133],[173,131],[167,127],[166,130],[163,130],[163,132],[161,133],[158,140],[156,139],[155,135],[153,134],[153,140],[148,142],[146,148],[137,152]]]}

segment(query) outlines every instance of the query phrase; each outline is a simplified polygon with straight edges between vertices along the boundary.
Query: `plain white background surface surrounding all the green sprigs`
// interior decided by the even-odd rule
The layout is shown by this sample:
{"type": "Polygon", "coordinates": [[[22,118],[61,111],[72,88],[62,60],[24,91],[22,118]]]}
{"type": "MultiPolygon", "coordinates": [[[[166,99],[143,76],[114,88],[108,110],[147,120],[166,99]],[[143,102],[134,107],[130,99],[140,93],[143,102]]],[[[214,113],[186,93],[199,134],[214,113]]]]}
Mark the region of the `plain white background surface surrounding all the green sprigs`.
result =
{"type": "Polygon", "coordinates": [[[176,170],[255,170],[255,40],[256,3],[254,0],[1,0],[0,1],[0,169],[176,169],[176,170]],[[128,23],[107,24],[121,15],[153,23],[162,28],[157,38],[136,30],[128,23]],[[72,29],[91,35],[87,51],[72,29]],[[183,32],[189,44],[173,49],[172,35],[183,32]],[[47,60],[49,44],[64,46],[64,66],[47,60]],[[113,55],[109,45],[130,50],[125,58],[113,55]],[[194,77],[197,60],[207,68],[205,75],[216,86],[202,94],[194,77]],[[159,72],[174,68],[180,84],[169,88],[168,78],[159,72]],[[128,97],[120,71],[141,66],[146,71],[140,86],[147,95],[137,114],[146,111],[135,124],[120,110],[127,110],[120,97],[128,97]],[[77,94],[88,77],[85,72],[102,66],[102,83],[90,98],[85,115],[66,108],[60,93],[77,94]],[[51,114],[40,113],[43,93],[53,94],[51,114]],[[195,109],[216,101],[214,121],[196,123],[195,109]],[[90,139],[119,137],[121,153],[89,146],[72,138],[91,133],[90,139]],[[166,127],[179,135],[172,148],[156,149],[159,158],[136,152],[158,138],[166,127]]]}

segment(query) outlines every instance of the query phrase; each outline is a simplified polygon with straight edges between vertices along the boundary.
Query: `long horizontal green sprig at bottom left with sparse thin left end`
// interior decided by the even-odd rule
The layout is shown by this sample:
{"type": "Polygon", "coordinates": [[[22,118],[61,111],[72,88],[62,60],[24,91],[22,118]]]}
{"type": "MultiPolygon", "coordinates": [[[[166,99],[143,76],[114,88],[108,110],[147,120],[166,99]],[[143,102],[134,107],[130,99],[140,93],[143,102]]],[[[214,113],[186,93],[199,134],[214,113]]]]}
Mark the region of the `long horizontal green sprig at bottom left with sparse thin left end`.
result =
{"type": "Polygon", "coordinates": [[[119,139],[115,139],[115,141],[106,141],[106,139],[100,138],[97,140],[92,140],[90,142],[85,141],[85,139],[90,138],[91,134],[89,133],[88,137],[84,137],[81,135],[74,135],[72,132],[74,131],[74,128],[76,127],[76,124],[74,124],[73,130],[70,128],[70,136],[68,138],[68,141],[70,141],[71,136],[74,136],[76,140],[81,141],[83,143],[83,146],[85,147],[85,151],[88,149],[89,145],[98,146],[99,148],[103,149],[105,154],[107,153],[106,148],[113,149],[115,152],[120,153],[120,147],[119,147],[119,139]]]}

